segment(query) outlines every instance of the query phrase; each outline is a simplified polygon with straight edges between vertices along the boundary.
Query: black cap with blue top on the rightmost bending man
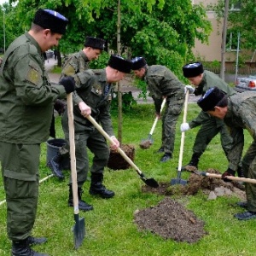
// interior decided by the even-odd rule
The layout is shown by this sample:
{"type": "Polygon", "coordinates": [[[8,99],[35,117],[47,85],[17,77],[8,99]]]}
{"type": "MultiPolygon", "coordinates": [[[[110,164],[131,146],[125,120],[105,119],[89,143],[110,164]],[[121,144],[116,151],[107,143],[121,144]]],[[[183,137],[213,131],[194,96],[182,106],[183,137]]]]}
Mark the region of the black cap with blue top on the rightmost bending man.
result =
{"type": "Polygon", "coordinates": [[[219,90],[218,87],[212,87],[205,93],[204,96],[197,101],[198,106],[202,111],[207,112],[218,105],[226,94],[223,90],[219,90]]]}

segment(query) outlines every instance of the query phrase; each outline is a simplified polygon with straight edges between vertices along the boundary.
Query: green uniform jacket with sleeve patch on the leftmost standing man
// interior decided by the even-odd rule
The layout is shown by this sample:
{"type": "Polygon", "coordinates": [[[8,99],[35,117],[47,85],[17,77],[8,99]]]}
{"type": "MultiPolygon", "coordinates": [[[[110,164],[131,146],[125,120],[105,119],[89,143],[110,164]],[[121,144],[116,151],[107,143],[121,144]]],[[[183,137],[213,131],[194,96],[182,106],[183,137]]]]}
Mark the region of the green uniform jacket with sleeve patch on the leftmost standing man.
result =
{"type": "Polygon", "coordinates": [[[36,144],[49,138],[53,104],[65,97],[51,85],[38,43],[29,33],[9,45],[0,69],[0,141],[36,144]]]}

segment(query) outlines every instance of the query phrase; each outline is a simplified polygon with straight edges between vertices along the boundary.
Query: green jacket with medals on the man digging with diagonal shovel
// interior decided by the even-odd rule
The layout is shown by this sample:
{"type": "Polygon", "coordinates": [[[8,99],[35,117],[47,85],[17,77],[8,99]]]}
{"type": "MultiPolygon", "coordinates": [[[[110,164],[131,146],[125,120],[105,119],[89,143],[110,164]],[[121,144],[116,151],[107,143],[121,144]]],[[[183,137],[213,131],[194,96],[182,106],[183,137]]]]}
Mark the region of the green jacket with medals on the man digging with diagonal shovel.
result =
{"type": "MultiPolygon", "coordinates": [[[[91,70],[88,69],[82,73],[74,75],[77,86],[77,95],[91,108],[91,116],[101,123],[104,131],[109,136],[113,136],[113,125],[109,113],[111,100],[113,97],[113,85],[108,84],[106,70],[91,70]]],[[[91,126],[88,119],[81,115],[78,105],[73,108],[74,120],[77,124],[75,132],[79,129],[84,131],[83,126],[91,126]]],[[[63,115],[67,119],[67,111],[63,115]]]]}

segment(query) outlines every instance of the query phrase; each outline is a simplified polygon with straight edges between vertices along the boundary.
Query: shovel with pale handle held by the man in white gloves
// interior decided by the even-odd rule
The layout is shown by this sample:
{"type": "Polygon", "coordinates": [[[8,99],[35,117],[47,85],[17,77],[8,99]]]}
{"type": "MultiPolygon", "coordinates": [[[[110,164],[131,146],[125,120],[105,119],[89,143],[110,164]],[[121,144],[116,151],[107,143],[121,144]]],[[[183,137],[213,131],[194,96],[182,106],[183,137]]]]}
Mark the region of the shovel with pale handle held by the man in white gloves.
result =
{"type": "MultiPolygon", "coordinates": [[[[185,123],[186,119],[187,119],[188,101],[189,101],[189,90],[186,91],[186,96],[185,96],[183,123],[185,123]]],[[[183,164],[184,139],[185,139],[185,131],[183,131],[182,135],[181,135],[181,143],[180,143],[178,166],[177,166],[177,178],[172,178],[171,185],[175,185],[175,184],[186,185],[188,183],[186,180],[181,179],[181,170],[182,170],[182,164],[183,164]]]]}

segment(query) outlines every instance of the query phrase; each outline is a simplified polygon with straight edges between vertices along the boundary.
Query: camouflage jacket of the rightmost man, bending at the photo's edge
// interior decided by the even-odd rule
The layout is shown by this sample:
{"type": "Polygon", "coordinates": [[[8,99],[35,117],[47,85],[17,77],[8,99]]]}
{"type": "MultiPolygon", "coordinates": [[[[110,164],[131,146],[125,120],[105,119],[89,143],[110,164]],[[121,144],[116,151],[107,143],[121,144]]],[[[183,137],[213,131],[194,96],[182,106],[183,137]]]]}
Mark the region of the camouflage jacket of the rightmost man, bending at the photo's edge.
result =
{"type": "Polygon", "coordinates": [[[224,117],[224,123],[229,127],[233,138],[229,152],[229,167],[236,171],[244,146],[243,129],[247,129],[256,142],[256,94],[251,91],[230,96],[228,112],[224,117]]]}

